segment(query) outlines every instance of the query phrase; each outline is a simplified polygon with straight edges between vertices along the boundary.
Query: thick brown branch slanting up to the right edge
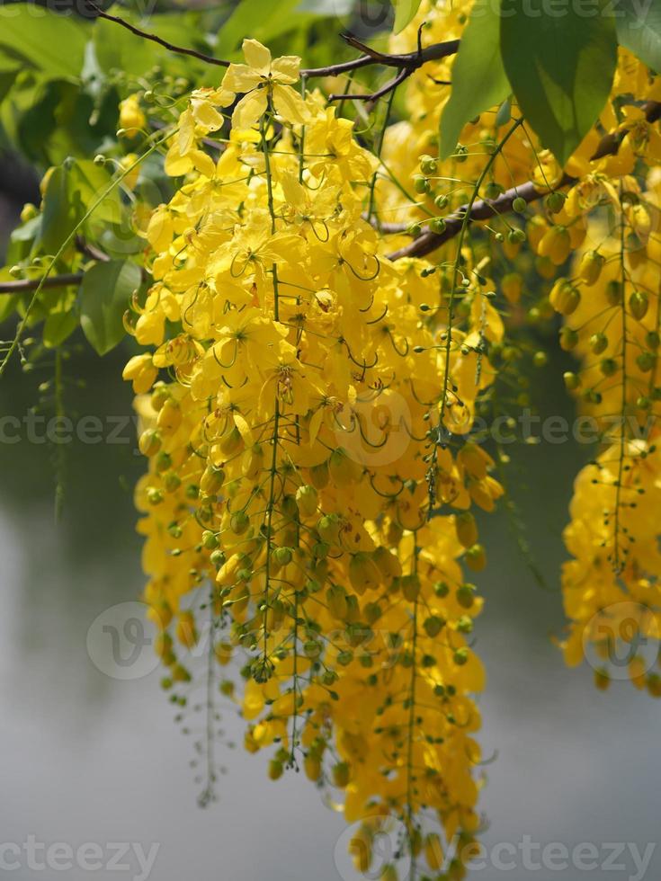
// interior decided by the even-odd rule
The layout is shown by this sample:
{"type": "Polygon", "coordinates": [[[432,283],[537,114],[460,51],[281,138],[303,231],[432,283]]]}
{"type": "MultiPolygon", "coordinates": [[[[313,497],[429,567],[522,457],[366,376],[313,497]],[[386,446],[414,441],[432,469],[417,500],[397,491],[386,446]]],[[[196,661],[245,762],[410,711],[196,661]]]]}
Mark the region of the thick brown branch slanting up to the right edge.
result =
{"type": "MultiPolygon", "coordinates": [[[[648,122],[659,120],[661,118],[661,103],[656,101],[648,102],[645,105],[645,116],[648,122]]],[[[617,134],[605,135],[594,151],[592,161],[603,159],[604,156],[614,156],[620,149],[625,134],[626,132],[619,132],[617,134]]],[[[578,178],[572,177],[570,174],[564,174],[555,189],[561,190],[564,187],[572,186],[577,180],[578,178]]],[[[538,190],[531,181],[512,187],[498,196],[497,199],[485,199],[475,202],[470,211],[469,223],[475,223],[478,220],[489,220],[501,214],[509,213],[512,210],[515,199],[523,199],[530,204],[548,195],[548,192],[548,190],[538,190]]],[[[389,254],[389,259],[399,260],[401,257],[424,257],[427,254],[432,254],[433,251],[445,245],[446,242],[449,242],[459,233],[467,210],[468,206],[462,205],[450,217],[445,218],[445,229],[442,233],[425,232],[422,236],[418,236],[415,241],[411,242],[410,245],[406,245],[393,254],[389,254]]]]}

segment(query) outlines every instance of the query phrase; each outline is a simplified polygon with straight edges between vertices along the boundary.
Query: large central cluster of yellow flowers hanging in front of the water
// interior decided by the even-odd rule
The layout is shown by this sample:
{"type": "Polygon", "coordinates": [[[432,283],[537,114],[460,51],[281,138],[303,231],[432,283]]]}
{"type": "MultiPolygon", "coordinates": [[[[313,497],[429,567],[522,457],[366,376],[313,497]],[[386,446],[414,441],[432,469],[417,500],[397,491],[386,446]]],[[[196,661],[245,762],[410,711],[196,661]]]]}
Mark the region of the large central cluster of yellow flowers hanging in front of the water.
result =
{"type": "Polygon", "coordinates": [[[167,167],[184,182],[147,229],[133,332],[152,352],[124,372],[150,463],[145,596],[174,682],[202,615],[219,663],[242,658],[223,690],[273,779],[302,764],[367,840],[397,818],[433,871],[427,812],[467,843],[478,829],[481,600],[461,560],[484,565],[469,509],[502,492],[486,452],[446,440],[469,430],[492,375],[478,343],[502,323],[480,277],[449,333],[447,278],[390,262],[363,216],[378,166],[352,124],[295,91],[299,59],[244,52],[183,112],[167,167]]]}

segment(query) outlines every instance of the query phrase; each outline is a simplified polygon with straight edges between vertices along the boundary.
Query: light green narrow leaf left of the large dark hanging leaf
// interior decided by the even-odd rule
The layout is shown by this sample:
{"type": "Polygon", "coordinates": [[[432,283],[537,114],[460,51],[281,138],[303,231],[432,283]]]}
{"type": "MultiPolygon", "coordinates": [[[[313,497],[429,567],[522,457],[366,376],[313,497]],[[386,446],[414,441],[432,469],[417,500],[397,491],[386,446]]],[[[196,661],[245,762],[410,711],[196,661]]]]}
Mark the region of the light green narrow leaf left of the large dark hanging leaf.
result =
{"type": "Polygon", "coordinates": [[[466,123],[510,91],[500,58],[500,16],[491,0],[478,0],[452,66],[452,91],[441,117],[442,159],[454,152],[466,123]]]}

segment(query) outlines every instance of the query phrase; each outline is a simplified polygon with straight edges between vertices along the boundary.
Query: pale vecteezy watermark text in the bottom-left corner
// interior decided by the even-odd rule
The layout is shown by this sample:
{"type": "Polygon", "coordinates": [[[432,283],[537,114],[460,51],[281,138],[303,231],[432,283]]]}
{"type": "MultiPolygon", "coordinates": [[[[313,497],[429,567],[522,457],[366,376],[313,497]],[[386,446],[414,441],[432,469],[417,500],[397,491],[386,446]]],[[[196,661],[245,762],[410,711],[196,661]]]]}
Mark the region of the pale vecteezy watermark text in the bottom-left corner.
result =
{"type": "Polygon", "coordinates": [[[25,841],[0,842],[0,873],[21,872],[122,872],[131,881],[147,881],[156,864],[160,844],[148,849],[139,841],[85,841],[74,847],[67,841],[39,841],[28,835],[25,841]]]}

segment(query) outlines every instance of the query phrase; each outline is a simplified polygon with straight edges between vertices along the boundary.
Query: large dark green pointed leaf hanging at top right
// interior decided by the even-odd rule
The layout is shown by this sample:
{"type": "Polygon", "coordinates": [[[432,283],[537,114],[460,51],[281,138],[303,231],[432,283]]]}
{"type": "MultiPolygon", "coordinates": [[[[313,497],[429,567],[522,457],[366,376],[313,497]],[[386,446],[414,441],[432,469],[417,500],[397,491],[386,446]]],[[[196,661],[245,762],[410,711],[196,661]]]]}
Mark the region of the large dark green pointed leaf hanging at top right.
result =
{"type": "Polygon", "coordinates": [[[564,165],[611,93],[617,64],[612,15],[577,4],[551,15],[546,0],[503,0],[500,41],[519,106],[564,165]]]}

